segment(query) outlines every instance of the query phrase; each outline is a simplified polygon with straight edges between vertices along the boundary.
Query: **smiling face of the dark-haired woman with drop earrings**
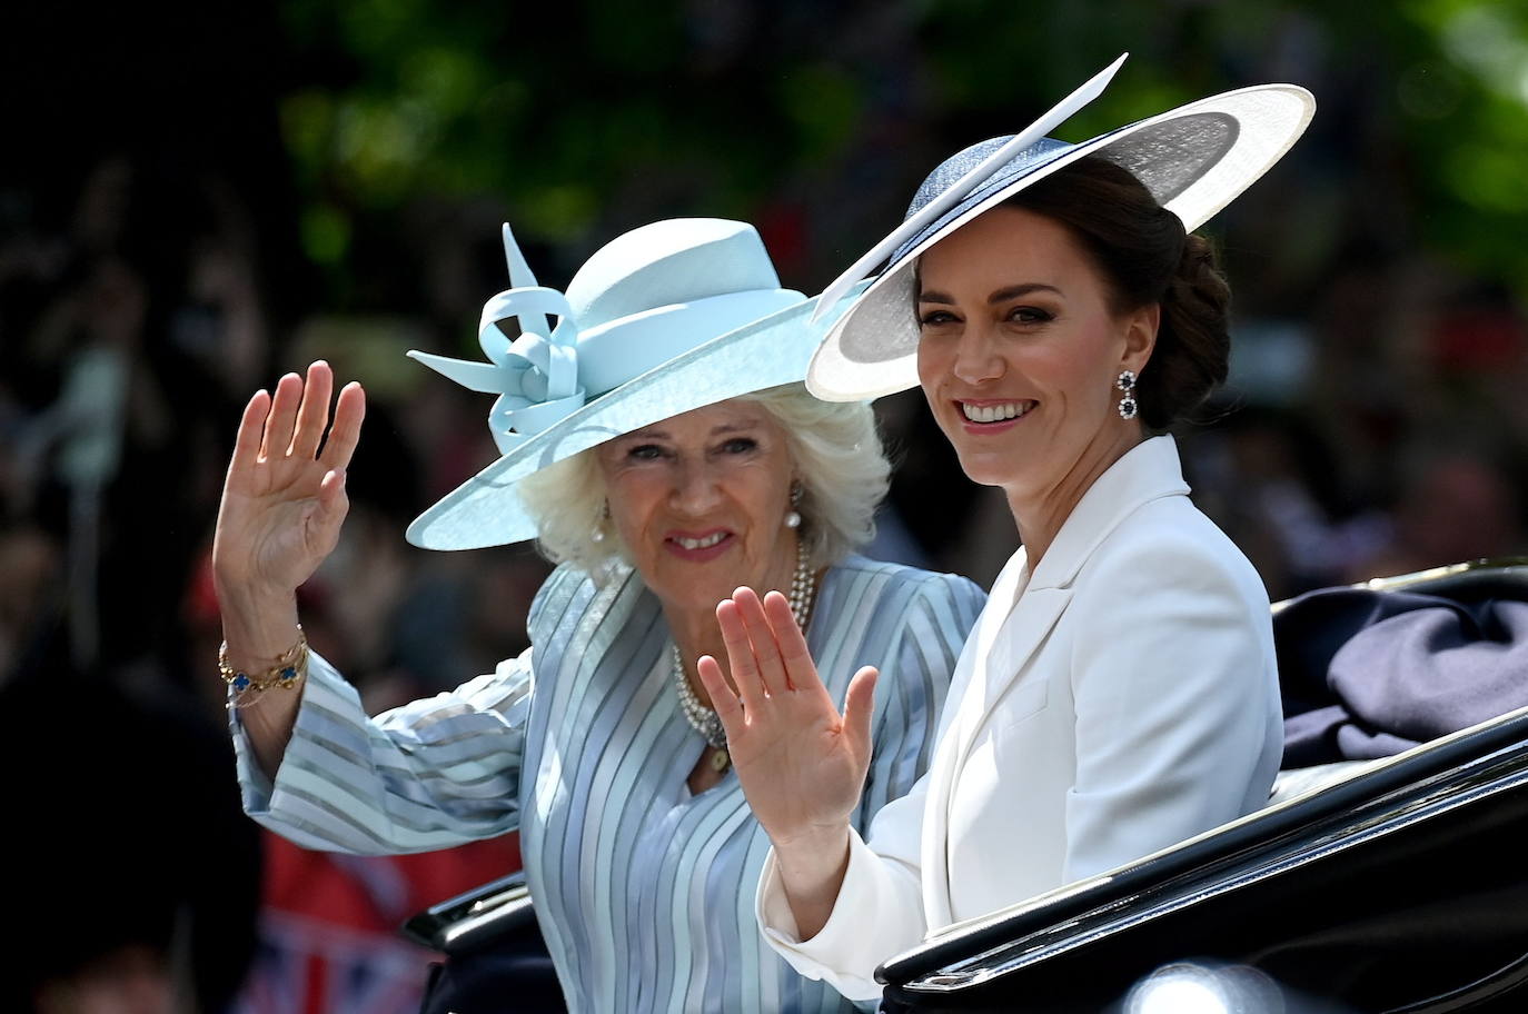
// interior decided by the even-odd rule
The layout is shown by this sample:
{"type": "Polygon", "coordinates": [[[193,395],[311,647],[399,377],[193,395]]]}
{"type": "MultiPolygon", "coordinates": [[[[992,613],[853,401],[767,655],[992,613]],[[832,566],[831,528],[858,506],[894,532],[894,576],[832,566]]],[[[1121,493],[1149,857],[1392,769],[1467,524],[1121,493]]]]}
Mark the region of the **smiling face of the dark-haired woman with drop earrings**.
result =
{"type": "MultiPolygon", "coordinates": [[[[1140,373],[1158,307],[1115,313],[1071,232],[995,208],[920,261],[918,380],[961,467],[1022,504],[1068,501],[1141,440],[1114,382],[1140,373]]],[[[1021,530],[1024,524],[1021,521],[1021,530]]]]}

